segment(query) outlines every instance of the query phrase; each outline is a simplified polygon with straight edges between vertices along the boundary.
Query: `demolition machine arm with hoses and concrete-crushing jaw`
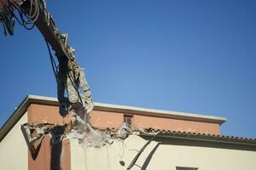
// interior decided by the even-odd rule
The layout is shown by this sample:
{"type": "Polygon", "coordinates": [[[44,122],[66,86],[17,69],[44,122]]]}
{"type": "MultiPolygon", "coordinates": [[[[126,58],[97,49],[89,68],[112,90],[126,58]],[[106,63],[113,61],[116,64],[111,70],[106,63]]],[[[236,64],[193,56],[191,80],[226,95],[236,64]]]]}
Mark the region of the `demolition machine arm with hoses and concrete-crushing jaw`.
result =
{"type": "Polygon", "coordinates": [[[84,71],[75,59],[74,49],[68,46],[67,34],[61,34],[55,26],[55,21],[46,8],[46,1],[0,0],[0,24],[3,25],[5,35],[7,32],[14,34],[15,20],[27,30],[37,26],[44,36],[55,72],[61,116],[66,116],[68,111],[77,115],[92,111],[93,102],[84,71]],[[55,51],[58,65],[55,64],[49,45],[55,51]]]}

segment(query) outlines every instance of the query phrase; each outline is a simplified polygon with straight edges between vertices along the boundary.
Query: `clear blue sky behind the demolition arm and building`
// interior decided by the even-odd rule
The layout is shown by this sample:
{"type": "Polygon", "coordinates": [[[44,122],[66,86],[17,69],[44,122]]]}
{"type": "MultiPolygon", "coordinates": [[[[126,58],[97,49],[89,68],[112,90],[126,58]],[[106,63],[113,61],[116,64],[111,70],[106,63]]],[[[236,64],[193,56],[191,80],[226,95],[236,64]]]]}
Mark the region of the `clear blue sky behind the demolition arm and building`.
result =
{"type": "MultiPolygon", "coordinates": [[[[48,1],[96,102],[227,117],[256,138],[256,1],[48,1]]],[[[0,36],[0,125],[27,94],[56,96],[44,38],[0,36]]]]}

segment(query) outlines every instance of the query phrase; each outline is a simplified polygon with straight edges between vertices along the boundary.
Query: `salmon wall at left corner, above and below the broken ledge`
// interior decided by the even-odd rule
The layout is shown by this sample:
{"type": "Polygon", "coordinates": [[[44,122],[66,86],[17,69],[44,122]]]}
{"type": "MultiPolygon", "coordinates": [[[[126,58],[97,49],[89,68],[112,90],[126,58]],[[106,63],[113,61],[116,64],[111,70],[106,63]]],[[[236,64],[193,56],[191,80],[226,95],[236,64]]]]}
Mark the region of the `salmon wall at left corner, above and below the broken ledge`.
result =
{"type": "MultiPolygon", "coordinates": [[[[70,116],[67,116],[63,119],[59,114],[58,106],[32,104],[27,108],[27,122],[30,124],[44,122],[63,124],[69,122],[70,118],[70,116]]],[[[28,154],[29,170],[71,169],[69,139],[59,144],[51,144],[51,139],[47,135],[41,144],[38,141],[36,147],[38,147],[38,155],[34,156],[34,159],[30,153],[28,154]]]]}

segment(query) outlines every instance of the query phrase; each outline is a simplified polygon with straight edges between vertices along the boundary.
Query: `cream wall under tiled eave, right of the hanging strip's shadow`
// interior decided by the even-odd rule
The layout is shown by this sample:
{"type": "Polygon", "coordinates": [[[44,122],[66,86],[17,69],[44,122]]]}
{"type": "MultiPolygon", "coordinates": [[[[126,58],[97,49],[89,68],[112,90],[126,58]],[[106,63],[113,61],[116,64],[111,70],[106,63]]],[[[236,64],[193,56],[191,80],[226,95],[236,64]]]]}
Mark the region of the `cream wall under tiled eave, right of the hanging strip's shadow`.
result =
{"type": "Polygon", "coordinates": [[[193,143],[190,146],[188,143],[160,144],[148,165],[148,170],[155,169],[157,165],[161,165],[161,169],[170,170],[175,170],[176,167],[198,167],[199,170],[253,170],[256,167],[255,150],[231,149],[230,144],[218,147],[220,144],[201,142],[201,145],[205,145],[201,147],[193,143]]]}

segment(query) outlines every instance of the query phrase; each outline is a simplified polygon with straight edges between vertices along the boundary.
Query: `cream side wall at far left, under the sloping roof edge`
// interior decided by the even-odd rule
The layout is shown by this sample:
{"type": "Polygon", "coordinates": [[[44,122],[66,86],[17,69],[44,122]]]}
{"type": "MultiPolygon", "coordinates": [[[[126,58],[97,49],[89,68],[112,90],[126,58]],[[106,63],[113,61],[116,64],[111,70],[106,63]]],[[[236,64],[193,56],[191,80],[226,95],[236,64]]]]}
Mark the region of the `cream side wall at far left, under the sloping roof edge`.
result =
{"type": "Polygon", "coordinates": [[[27,146],[20,125],[27,122],[25,113],[0,144],[0,169],[27,170],[27,146]]]}

